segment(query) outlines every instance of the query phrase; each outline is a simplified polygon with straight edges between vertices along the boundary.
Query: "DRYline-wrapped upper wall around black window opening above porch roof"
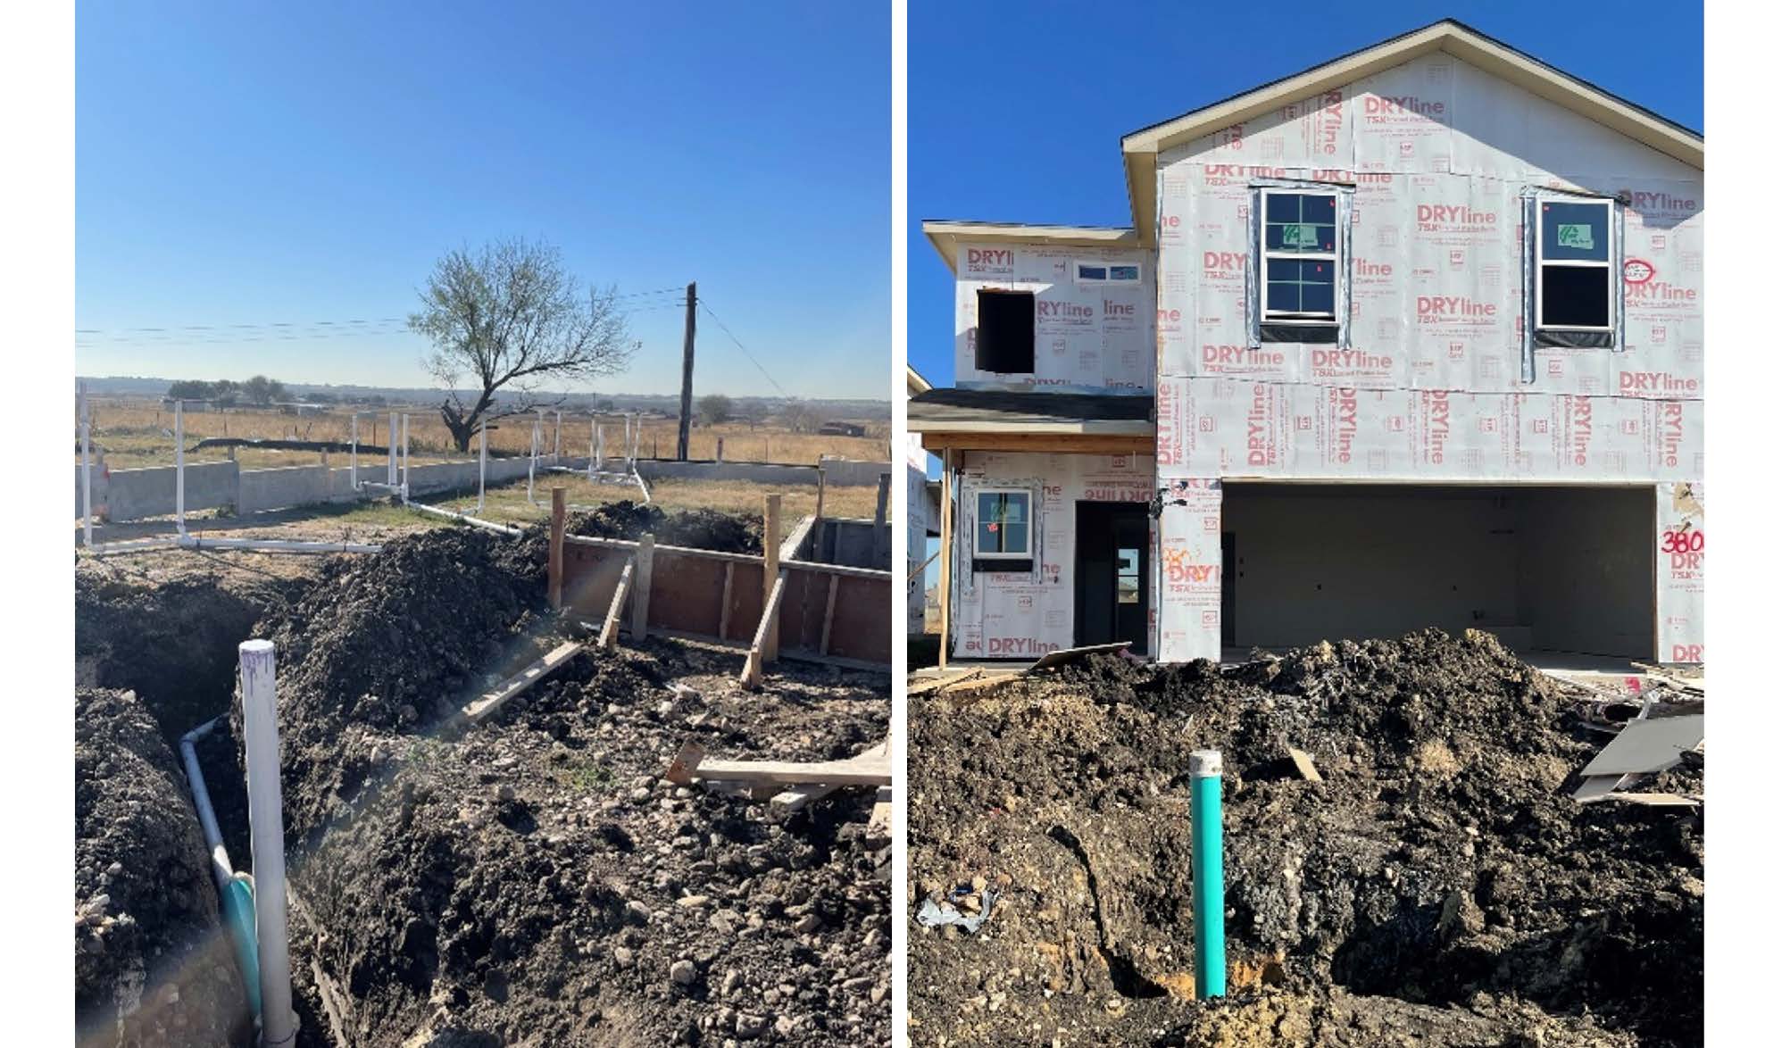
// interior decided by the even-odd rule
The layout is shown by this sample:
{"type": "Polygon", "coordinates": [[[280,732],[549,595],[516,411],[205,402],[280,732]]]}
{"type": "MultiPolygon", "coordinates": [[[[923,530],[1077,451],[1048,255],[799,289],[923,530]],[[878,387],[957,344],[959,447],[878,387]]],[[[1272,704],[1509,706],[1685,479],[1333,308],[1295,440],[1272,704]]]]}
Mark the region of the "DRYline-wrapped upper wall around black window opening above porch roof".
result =
{"type": "Polygon", "coordinates": [[[960,244],[953,374],[960,389],[1151,392],[1157,257],[1144,250],[960,244]],[[1083,283],[1076,262],[1139,267],[1135,283],[1083,283]],[[1034,373],[977,369],[978,291],[1034,292],[1034,373]]]}

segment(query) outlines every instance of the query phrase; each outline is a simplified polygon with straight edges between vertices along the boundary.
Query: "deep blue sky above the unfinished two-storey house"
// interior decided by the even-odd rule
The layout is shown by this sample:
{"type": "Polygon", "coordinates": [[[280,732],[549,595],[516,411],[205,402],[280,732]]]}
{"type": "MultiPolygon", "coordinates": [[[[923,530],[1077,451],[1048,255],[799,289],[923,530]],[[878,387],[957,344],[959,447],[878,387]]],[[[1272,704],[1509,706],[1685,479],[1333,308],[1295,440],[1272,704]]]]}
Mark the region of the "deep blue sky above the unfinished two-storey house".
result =
{"type": "Polygon", "coordinates": [[[909,362],[953,381],[952,274],[921,219],[1130,225],[1121,135],[1440,18],[1702,130],[1689,4],[909,0],[909,362]]]}

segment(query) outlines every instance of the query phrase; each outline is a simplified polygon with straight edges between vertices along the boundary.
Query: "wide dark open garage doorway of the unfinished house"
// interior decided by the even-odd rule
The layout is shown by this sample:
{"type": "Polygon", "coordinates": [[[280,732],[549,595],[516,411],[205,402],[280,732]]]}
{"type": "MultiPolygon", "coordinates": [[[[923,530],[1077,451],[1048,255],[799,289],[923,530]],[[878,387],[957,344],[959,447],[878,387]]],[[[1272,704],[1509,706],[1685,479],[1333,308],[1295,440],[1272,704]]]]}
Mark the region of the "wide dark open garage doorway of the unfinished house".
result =
{"type": "Polygon", "coordinates": [[[1650,487],[1224,487],[1224,643],[1486,629],[1522,652],[1650,658],[1650,487]]]}

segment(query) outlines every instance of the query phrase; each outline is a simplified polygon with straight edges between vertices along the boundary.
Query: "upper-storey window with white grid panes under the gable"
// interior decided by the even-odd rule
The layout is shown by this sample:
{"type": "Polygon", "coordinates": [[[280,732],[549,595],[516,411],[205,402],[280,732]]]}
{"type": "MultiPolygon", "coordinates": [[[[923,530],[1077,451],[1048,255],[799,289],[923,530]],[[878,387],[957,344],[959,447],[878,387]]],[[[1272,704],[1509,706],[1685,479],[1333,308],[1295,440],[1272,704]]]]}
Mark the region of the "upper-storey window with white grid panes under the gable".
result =
{"type": "Polygon", "coordinates": [[[1336,323],[1336,194],[1263,191],[1262,317],[1336,323]]]}

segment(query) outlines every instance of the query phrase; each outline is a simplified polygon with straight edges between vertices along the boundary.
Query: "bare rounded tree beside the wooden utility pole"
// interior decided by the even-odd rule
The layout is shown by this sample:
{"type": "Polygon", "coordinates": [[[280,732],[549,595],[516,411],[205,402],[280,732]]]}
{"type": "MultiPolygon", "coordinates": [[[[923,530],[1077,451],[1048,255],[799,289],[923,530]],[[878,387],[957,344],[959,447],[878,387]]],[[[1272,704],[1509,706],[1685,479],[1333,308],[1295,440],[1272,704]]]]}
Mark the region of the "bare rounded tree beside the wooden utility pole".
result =
{"type": "Polygon", "coordinates": [[[545,242],[515,237],[440,258],[408,330],[433,342],[426,365],[446,387],[440,421],[458,451],[490,421],[545,406],[533,396],[545,378],[624,371],[638,342],[615,301],[611,287],[583,294],[561,251],[545,242]],[[465,376],[469,405],[458,389],[465,376]],[[499,403],[497,390],[506,390],[499,403]]]}

